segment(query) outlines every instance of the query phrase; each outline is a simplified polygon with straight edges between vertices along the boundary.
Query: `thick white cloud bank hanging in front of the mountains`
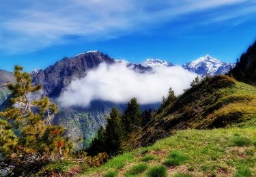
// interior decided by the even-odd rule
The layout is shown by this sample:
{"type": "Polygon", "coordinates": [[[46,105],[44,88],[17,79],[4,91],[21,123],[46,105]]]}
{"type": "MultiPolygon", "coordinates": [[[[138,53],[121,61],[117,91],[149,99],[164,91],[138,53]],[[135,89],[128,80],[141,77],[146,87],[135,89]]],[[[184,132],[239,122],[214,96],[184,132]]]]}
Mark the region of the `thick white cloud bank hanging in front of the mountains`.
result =
{"type": "Polygon", "coordinates": [[[137,97],[139,103],[157,103],[173,88],[176,95],[197,77],[180,66],[156,67],[153,72],[139,74],[126,67],[126,63],[106,65],[89,71],[85,78],[76,79],[59,97],[61,106],[89,106],[92,100],[125,103],[137,97]]]}

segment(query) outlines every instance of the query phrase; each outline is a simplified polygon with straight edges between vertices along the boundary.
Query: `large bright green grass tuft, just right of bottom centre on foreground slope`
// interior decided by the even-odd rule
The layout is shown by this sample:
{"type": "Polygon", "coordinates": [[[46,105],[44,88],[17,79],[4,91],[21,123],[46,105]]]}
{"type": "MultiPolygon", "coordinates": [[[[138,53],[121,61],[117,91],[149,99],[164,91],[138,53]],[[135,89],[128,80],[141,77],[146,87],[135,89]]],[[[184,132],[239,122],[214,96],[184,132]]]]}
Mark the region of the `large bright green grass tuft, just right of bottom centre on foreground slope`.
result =
{"type": "Polygon", "coordinates": [[[167,166],[179,166],[184,163],[188,157],[181,152],[173,151],[169,153],[167,159],[165,160],[164,164],[167,166]]]}

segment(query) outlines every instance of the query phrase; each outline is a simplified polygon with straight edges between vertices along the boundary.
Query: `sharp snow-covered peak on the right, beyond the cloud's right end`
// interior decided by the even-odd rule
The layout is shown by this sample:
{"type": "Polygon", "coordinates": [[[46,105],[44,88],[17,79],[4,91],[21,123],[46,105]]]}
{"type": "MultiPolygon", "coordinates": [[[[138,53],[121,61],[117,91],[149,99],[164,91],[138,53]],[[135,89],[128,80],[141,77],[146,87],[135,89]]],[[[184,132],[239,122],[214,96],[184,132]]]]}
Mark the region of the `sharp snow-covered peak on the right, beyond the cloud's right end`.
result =
{"type": "Polygon", "coordinates": [[[214,59],[210,55],[200,57],[199,59],[182,65],[184,69],[195,72],[201,76],[214,76],[217,74],[226,74],[235,65],[214,59]]]}

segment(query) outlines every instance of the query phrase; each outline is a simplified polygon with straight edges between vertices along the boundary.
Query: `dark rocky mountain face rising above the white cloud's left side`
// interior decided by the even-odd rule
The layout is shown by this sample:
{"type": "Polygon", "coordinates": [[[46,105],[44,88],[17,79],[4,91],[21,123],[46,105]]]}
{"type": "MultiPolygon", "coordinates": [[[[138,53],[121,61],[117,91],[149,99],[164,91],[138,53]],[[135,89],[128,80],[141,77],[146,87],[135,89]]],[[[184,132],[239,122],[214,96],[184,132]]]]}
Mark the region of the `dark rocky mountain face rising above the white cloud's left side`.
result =
{"type": "Polygon", "coordinates": [[[33,83],[42,84],[44,92],[49,97],[58,97],[72,79],[85,76],[90,69],[98,67],[102,62],[113,64],[115,60],[98,51],[89,51],[78,54],[76,57],[64,58],[55,65],[34,73],[33,83]]]}

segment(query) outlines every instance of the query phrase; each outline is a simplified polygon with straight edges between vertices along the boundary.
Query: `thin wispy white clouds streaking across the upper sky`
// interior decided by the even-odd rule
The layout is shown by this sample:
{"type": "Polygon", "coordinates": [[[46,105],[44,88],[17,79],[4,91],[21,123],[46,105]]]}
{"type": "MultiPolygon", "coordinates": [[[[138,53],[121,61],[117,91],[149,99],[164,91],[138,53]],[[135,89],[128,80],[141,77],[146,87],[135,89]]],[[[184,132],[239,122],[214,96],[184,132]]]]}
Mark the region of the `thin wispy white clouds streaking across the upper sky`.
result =
{"type": "MultiPolygon", "coordinates": [[[[253,0],[63,0],[1,1],[0,50],[30,52],[65,44],[66,36],[85,40],[119,37],[145,31],[180,16],[202,13],[201,22],[220,22],[256,12],[253,0]],[[254,5],[254,6],[253,6],[254,5]],[[208,14],[208,10],[242,7],[208,14]],[[249,7],[249,10],[248,10],[249,7]]],[[[193,19],[191,19],[193,20],[193,19]]]]}

